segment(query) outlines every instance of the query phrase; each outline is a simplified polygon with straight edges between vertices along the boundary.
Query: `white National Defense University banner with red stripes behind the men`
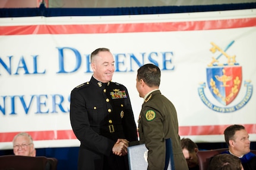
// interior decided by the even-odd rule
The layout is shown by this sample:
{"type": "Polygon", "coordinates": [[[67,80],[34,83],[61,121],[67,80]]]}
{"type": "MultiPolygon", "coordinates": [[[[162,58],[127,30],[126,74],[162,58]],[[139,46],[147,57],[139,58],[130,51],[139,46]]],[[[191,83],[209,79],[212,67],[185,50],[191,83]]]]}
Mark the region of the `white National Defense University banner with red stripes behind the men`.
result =
{"type": "Polygon", "coordinates": [[[69,95],[90,80],[90,53],[107,47],[114,82],[128,88],[138,119],[137,69],[162,71],[179,134],[224,142],[230,124],[256,141],[256,10],[105,17],[0,18],[0,149],[27,131],[36,147],[79,146],[69,95]]]}

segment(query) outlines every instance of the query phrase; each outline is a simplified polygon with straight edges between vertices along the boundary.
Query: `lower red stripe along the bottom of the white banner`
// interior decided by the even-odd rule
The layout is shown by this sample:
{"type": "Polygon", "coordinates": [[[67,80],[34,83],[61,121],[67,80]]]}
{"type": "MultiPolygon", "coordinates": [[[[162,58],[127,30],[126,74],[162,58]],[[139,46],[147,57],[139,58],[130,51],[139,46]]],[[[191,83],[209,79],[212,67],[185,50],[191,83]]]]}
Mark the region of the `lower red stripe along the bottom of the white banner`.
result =
{"type": "MultiPolygon", "coordinates": [[[[181,126],[179,135],[219,135],[230,125],[210,125],[210,126],[181,126]]],[[[243,124],[249,134],[256,134],[256,124],[243,124]]],[[[19,132],[0,133],[0,142],[12,142],[13,137],[19,132]]],[[[77,139],[72,130],[49,130],[49,131],[27,131],[33,140],[61,140],[77,139]]]]}

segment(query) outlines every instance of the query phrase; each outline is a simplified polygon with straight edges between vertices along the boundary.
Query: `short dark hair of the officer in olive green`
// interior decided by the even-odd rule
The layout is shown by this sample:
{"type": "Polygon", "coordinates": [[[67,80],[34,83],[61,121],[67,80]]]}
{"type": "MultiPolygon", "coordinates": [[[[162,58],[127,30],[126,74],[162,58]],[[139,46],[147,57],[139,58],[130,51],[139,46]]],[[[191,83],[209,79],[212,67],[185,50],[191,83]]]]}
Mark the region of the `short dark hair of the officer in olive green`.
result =
{"type": "Polygon", "coordinates": [[[137,79],[143,81],[150,87],[160,85],[161,71],[153,64],[146,64],[138,69],[137,79]]]}

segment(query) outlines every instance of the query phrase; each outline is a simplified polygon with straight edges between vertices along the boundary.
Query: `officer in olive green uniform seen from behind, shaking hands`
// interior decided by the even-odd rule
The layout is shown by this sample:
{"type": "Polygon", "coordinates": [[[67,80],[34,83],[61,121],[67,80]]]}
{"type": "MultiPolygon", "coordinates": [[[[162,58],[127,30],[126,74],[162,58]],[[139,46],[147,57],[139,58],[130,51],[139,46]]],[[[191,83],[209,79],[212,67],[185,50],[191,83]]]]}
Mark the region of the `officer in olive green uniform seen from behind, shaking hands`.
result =
{"type": "Polygon", "coordinates": [[[140,143],[148,149],[148,170],[165,169],[165,139],[172,140],[175,170],[186,170],[188,165],[181,149],[178,118],[172,102],[158,89],[160,69],[147,64],[138,69],[137,90],[144,98],[138,120],[140,143]]]}

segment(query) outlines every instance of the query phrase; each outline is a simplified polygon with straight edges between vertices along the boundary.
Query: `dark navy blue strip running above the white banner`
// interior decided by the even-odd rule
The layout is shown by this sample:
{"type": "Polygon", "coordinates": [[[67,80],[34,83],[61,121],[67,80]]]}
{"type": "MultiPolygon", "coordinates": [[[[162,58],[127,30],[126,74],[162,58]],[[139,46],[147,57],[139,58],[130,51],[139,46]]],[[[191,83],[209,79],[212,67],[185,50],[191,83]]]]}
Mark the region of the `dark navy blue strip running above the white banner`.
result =
{"type": "Polygon", "coordinates": [[[256,8],[256,2],[242,4],[189,5],[165,7],[124,7],[124,8],[2,8],[0,17],[61,17],[61,16],[104,16],[104,15],[143,15],[173,14],[182,12],[227,11],[256,8]]]}

